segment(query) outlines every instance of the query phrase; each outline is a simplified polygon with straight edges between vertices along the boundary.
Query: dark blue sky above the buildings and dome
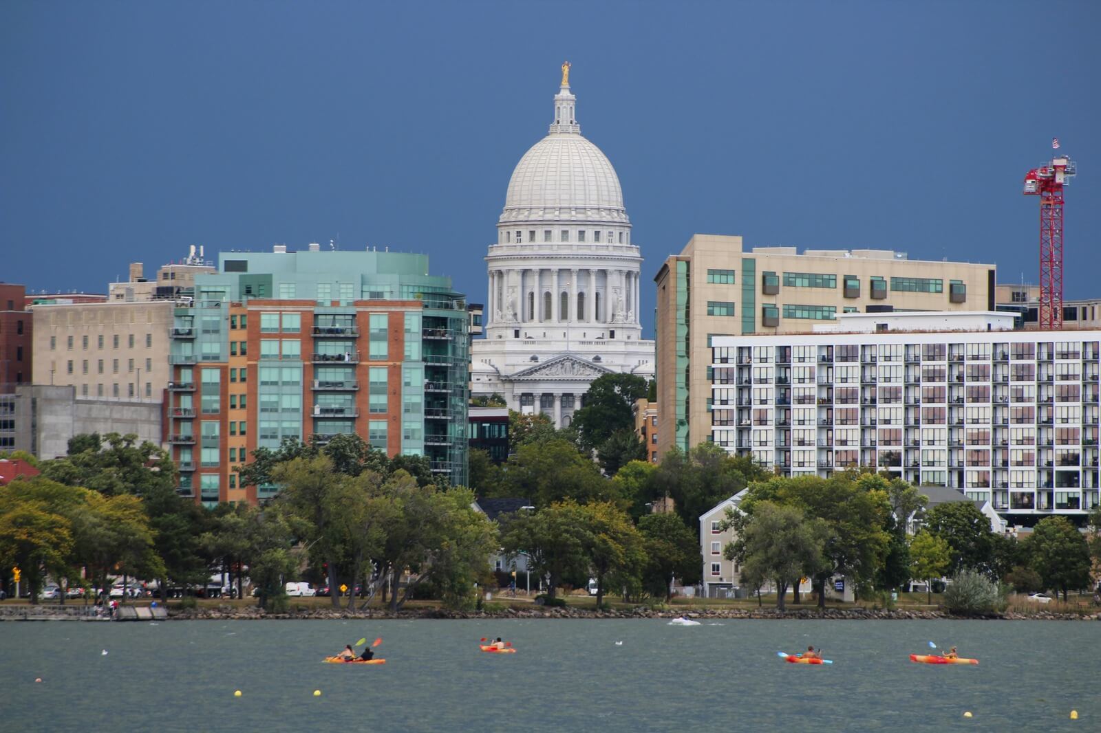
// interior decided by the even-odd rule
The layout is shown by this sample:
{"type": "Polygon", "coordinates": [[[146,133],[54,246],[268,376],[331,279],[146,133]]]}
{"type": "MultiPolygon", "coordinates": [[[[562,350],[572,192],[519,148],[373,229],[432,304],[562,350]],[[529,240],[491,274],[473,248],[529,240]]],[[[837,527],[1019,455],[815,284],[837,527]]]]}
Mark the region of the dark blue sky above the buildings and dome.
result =
{"type": "Polygon", "coordinates": [[[193,243],[334,239],[426,252],[483,300],[509,176],[568,58],[644,283],[694,232],[1035,282],[1021,182],[1057,135],[1081,172],[1067,296],[1101,297],[1099,31],[1086,0],[9,0],[0,280],[102,292],[193,243]]]}

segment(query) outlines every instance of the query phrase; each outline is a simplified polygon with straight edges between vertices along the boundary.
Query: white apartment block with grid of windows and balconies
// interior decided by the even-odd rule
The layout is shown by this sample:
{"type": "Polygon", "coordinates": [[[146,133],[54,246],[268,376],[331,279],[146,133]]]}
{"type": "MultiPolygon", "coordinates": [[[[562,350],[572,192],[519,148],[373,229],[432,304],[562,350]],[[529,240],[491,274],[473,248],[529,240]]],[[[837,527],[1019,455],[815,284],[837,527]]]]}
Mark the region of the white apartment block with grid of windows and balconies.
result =
{"type": "Polygon", "coordinates": [[[1015,524],[1098,505],[1101,330],[996,313],[852,314],[712,340],[711,439],[782,474],[868,466],[1015,524]],[[826,328],[830,330],[825,330],[826,328]]]}

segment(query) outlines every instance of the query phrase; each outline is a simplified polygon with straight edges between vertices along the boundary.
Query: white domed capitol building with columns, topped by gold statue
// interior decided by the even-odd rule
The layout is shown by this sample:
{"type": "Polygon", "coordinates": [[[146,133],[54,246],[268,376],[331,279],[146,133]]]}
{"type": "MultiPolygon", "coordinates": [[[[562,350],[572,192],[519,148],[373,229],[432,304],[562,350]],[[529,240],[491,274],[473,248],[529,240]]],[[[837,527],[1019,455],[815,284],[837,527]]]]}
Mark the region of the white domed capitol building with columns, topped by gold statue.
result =
{"type": "Polygon", "coordinates": [[[543,140],[512,172],[486,256],[486,338],[471,349],[471,394],[570,424],[601,374],[654,376],[642,339],[640,267],[619,177],[581,136],[569,64],[543,140]]]}

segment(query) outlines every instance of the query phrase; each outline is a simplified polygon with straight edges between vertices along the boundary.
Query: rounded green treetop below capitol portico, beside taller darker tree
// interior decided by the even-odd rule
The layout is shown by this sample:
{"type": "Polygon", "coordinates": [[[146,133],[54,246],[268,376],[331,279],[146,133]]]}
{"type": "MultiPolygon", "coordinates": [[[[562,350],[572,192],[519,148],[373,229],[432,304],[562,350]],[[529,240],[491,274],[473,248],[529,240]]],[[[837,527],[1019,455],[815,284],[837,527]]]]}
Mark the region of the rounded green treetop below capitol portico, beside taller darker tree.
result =
{"type": "Polygon", "coordinates": [[[615,489],[600,475],[596,463],[565,440],[521,446],[509,458],[503,473],[509,495],[522,496],[536,506],[569,499],[607,500],[615,489]]]}

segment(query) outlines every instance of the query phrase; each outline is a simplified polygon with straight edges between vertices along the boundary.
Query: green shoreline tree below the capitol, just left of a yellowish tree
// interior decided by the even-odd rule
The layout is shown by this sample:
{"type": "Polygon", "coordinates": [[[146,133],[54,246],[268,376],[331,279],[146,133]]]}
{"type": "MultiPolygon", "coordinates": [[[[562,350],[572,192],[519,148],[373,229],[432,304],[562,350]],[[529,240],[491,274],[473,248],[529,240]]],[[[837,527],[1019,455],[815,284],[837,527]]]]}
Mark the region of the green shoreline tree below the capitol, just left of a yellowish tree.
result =
{"type": "Polygon", "coordinates": [[[501,545],[509,555],[527,556],[537,577],[546,577],[550,598],[557,597],[564,578],[588,572],[588,548],[592,545],[581,506],[557,502],[533,513],[505,518],[501,545]]]}

